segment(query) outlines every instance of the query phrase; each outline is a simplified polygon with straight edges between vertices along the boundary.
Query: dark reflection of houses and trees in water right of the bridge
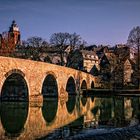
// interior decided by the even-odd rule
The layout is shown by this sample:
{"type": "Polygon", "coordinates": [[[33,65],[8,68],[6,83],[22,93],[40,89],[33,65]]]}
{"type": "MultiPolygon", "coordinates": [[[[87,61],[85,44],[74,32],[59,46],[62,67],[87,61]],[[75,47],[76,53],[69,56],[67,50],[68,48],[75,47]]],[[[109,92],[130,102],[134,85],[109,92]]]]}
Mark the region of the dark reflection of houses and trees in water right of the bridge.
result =
{"type": "Polygon", "coordinates": [[[98,114],[100,125],[123,127],[129,125],[134,116],[139,119],[139,105],[139,100],[136,97],[96,98],[92,112],[95,116],[97,112],[100,112],[98,114]],[[134,101],[135,105],[132,105],[134,101]]]}

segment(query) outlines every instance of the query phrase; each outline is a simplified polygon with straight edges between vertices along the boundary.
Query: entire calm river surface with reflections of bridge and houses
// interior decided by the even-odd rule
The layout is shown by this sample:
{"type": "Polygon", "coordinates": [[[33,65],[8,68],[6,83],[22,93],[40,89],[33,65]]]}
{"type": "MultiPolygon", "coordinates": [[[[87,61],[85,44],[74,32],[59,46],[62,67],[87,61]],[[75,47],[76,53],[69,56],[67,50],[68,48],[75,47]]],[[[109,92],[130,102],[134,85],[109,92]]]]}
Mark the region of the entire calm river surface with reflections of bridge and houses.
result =
{"type": "Polygon", "coordinates": [[[0,103],[0,139],[139,139],[140,97],[69,96],[0,103]]]}

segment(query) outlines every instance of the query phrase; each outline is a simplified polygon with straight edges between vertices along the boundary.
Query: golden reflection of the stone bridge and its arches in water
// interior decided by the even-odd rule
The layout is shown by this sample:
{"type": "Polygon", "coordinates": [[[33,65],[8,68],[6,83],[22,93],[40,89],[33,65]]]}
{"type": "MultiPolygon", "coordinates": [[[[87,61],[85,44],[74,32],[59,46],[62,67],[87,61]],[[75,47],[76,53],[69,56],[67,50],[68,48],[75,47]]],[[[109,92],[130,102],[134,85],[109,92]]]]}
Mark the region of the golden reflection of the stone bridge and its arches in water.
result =
{"type": "MultiPolygon", "coordinates": [[[[80,97],[75,98],[77,102],[80,101],[77,99],[80,97]]],[[[94,102],[90,98],[88,100],[90,106],[85,105],[84,107],[81,101],[77,104],[70,102],[66,105],[66,102],[69,101],[58,98],[44,99],[43,106],[28,106],[28,102],[1,102],[0,138],[35,139],[44,137],[90,110],[94,106],[94,102]],[[70,113],[69,108],[71,108],[70,113]]]]}

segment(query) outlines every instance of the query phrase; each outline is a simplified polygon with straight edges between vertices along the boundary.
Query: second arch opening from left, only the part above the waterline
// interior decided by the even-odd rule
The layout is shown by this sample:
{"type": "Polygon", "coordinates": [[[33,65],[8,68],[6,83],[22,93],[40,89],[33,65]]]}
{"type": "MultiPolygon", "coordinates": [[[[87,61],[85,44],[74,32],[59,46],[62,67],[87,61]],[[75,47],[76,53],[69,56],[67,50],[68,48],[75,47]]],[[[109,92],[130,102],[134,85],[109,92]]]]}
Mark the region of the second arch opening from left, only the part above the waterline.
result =
{"type": "Polygon", "coordinates": [[[48,74],[42,86],[43,97],[58,97],[58,85],[53,74],[48,74]]]}

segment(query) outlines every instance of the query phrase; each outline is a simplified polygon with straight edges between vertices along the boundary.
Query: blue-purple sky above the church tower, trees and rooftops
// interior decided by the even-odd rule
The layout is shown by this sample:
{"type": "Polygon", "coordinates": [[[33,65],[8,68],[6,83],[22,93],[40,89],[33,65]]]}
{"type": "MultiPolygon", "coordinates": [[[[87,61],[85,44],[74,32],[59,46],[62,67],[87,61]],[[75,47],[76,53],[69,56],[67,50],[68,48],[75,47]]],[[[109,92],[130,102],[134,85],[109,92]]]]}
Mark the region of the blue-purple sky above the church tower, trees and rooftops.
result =
{"type": "Polygon", "coordinates": [[[13,19],[22,40],[76,32],[88,44],[115,45],[140,26],[140,0],[0,0],[0,33],[13,19]]]}

